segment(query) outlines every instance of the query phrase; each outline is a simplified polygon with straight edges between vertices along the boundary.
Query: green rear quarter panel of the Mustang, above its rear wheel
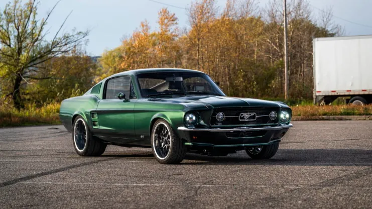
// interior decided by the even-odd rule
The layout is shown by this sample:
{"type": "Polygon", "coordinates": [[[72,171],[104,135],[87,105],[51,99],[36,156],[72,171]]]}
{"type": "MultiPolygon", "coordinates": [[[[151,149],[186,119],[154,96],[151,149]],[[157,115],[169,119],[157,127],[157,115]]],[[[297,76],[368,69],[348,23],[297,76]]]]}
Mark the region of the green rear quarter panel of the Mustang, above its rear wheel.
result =
{"type": "Polygon", "coordinates": [[[67,131],[72,133],[72,124],[76,116],[81,116],[92,129],[90,112],[97,109],[99,98],[95,95],[82,95],[62,101],[59,117],[67,131]]]}

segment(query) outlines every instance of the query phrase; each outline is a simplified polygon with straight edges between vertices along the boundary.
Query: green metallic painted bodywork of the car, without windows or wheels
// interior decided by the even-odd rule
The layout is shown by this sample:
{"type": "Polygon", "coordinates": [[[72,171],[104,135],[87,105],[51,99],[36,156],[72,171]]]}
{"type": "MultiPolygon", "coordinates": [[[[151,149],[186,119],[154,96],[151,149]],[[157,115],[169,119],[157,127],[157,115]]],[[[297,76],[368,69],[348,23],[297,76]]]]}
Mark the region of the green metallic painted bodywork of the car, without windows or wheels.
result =
{"type": "MultiPolygon", "coordinates": [[[[186,69],[142,69],[131,70],[103,79],[98,94],[89,94],[65,99],[61,103],[60,119],[69,132],[72,132],[74,117],[80,115],[87,122],[93,134],[106,134],[108,138],[128,139],[130,144],[148,146],[150,144],[151,125],[157,119],[166,120],[179,136],[177,128],[184,126],[184,115],[189,111],[198,112],[202,117],[210,117],[214,108],[220,107],[280,107],[290,110],[283,102],[266,101],[251,98],[237,98],[214,95],[193,95],[173,98],[144,98],[141,96],[136,75],[149,72],[197,72],[186,69]],[[102,99],[105,82],[113,77],[129,75],[137,99],[102,99]],[[97,113],[99,127],[93,128],[91,113],[97,113]],[[112,133],[112,137],[107,136],[112,133]],[[118,137],[122,136],[122,137],[118,137]]],[[[209,118],[200,121],[198,126],[209,126],[209,118]]],[[[209,127],[210,128],[210,127],[209,127]]],[[[126,140],[122,142],[126,143],[126,140]]]]}

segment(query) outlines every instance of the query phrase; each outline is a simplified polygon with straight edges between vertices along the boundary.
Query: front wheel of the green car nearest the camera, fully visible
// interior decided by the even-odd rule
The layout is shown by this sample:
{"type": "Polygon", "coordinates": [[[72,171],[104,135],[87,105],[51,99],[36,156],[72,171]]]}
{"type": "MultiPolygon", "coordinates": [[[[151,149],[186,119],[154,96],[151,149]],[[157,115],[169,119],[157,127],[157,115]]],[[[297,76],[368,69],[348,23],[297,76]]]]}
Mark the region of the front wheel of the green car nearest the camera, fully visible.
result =
{"type": "Polygon", "coordinates": [[[180,163],[186,154],[186,146],[162,119],[155,122],[151,132],[151,148],[156,160],[162,164],[180,163]]]}

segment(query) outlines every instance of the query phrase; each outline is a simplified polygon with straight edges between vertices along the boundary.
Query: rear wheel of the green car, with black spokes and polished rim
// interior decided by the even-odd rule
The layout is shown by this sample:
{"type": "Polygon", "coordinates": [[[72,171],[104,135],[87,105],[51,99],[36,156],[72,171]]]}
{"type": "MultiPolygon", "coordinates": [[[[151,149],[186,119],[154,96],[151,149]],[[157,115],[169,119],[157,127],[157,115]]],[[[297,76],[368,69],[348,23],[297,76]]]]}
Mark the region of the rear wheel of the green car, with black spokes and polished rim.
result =
{"type": "Polygon", "coordinates": [[[76,153],[80,156],[99,156],[106,149],[106,144],[91,135],[86,122],[81,116],[76,117],[74,121],[72,142],[76,153]]]}

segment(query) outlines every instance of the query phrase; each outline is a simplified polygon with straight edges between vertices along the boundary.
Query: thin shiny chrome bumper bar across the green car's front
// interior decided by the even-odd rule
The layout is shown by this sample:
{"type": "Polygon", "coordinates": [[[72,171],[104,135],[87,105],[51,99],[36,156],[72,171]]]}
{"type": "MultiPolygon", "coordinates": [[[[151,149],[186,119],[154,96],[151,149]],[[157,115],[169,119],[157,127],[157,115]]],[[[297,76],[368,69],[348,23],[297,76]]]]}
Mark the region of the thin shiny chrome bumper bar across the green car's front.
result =
{"type": "Polygon", "coordinates": [[[179,131],[206,131],[206,132],[232,132],[232,131],[278,131],[282,129],[291,128],[293,125],[281,125],[281,126],[273,126],[273,127],[261,127],[261,128],[250,128],[250,127],[238,127],[232,129],[193,129],[193,128],[186,128],[186,127],[178,127],[177,130],[179,131]]]}

